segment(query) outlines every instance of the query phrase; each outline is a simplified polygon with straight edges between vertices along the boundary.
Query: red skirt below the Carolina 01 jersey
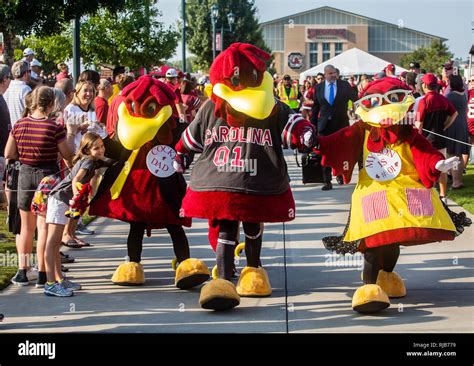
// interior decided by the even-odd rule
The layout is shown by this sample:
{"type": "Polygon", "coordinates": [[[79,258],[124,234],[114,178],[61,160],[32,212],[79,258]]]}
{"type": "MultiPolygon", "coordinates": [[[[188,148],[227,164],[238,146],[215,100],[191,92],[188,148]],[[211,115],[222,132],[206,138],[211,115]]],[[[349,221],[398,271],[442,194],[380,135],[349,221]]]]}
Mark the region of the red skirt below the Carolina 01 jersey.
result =
{"type": "Polygon", "coordinates": [[[182,212],[186,217],[242,222],[287,222],[295,218],[291,189],[278,195],[196,192],[188,188],[182,212]]]}

